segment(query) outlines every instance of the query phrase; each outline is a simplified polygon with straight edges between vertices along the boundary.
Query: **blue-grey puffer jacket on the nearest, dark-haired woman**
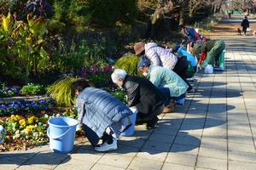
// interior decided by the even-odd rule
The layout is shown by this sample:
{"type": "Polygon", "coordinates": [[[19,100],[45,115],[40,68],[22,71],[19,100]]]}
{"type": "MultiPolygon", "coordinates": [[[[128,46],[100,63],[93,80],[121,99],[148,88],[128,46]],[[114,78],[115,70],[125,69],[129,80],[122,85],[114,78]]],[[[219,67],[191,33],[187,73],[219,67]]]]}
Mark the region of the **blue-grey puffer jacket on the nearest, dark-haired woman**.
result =
{"type": "Polygon", "coordinates": [[[99,138],[107,127],[132,114],[132,111],[119,99],[99,88],[84,88],[76,105],[79,111],[79,124],[90,127],[99,138]]]}

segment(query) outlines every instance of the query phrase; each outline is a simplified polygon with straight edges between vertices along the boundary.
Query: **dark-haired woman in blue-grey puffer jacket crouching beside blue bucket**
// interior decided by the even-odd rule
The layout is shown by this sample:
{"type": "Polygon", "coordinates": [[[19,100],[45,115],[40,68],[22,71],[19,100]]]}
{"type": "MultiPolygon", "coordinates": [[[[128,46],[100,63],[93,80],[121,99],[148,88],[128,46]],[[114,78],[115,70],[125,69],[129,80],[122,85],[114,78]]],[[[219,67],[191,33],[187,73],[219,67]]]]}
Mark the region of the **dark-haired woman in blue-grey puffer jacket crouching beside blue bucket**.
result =
{"type": "Polygon", "coordinates": [[[85,80],[72,84],[72,92],[77,95],[79,126],[90,144],[97,151],[117,150],[117,139],[131,125],[128,116],[132,111],[119,99],[99,88],[90,88],[85,80]],[[102,139],[102,144],[97,145],[102,139]]]}

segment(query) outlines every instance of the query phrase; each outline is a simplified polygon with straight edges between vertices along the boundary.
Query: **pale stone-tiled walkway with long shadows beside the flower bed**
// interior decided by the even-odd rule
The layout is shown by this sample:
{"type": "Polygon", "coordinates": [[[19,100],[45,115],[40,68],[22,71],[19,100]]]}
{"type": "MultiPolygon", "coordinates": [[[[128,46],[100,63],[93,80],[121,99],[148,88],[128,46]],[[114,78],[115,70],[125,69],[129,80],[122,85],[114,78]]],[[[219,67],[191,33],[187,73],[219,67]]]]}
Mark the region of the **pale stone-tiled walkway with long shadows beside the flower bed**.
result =
{"type": "MultiPolygon", "coordinates": [[[[229,21],[232,23],[232,20],[229,21]]],[[[256,169],[256,38],[224,37],[227,71],[199,74],[186,105],[136,127],[119,150],[97,153],[86,141],[72,154],[49,146],[0,155],[0,169],[256,169]]]]}

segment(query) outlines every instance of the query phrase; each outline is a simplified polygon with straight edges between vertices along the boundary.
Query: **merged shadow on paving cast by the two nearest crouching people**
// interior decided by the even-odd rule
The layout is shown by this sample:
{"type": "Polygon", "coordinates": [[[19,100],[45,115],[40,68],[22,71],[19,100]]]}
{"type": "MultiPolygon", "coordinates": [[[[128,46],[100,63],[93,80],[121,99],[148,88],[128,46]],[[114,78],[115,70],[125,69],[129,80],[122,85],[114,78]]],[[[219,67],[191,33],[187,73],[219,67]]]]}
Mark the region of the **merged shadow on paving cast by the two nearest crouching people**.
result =
{"type": "MultiPolygon", "coordinates": [[[[218,119],[207,118],[186,118],[185,121],[188,124],[183,124],[181,127],[183,118],[181,119],[162,119],[157,127],[154,129],[157,132],[151,135],[140,135],[136,139],[119,141],[119,149],[114,150],[113,153],[131,153],[131,152],[147,152],[150,155],[160,154],[164,152],[184,152],[195,150],[201,144],[201,139],[190,135],[183,130],[195,130],[207,127],[216,127],[224,124],[224,121],[218,119]],[[177,130],[179,128],[179,130],[177,130]],[[168,131],[177,130],[176,135],[168,134],[168,131]],[[148,139],[149,137],[149,139],[148,139]],[[128,146],[129,149],[122,149],[122,147],[128,146]]],[[[141,134],[141,133],[140,133],[141,134]]],[[[137,137],[137,135],[135,135],[137,137]]]]}

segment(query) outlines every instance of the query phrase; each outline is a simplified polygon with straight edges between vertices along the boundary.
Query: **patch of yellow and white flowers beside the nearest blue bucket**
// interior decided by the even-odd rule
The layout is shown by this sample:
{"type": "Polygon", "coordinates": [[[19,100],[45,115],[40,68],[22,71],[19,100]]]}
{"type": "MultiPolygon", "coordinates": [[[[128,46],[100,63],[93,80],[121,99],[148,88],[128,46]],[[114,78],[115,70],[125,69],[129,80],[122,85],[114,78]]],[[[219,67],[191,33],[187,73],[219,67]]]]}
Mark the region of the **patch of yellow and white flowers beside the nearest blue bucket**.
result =
{"type": "Polygon", "coordinates": [[[35,145],[47,144],[49,138],[47,137],[47,127],[49,118],[56,116],[69,116],[77,118],[76,112],[67,110],[62,114],[45,114],[38,113],[38,116],[31,115],[11,115],[0,122],[6,129],[6,136],[2,144],[0,144],[1,151],[8,150],[26,150],[35,145]]]}

